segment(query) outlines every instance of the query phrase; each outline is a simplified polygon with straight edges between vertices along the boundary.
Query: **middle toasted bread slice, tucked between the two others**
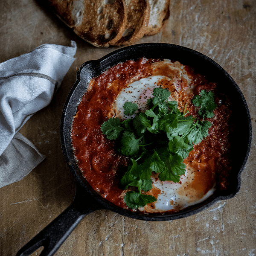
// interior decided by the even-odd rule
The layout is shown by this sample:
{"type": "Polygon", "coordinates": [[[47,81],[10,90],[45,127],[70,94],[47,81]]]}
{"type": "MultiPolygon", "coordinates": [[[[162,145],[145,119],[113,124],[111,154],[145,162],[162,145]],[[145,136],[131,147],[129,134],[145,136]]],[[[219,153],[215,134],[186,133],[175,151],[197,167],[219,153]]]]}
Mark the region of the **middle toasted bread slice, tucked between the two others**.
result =
{"type": "Polygon", "coordinates": [[[124,0],[127,9],[127,24],[122,38],[115,45],[134,44],[145,34],[149,22],[148,0],[124,0]]]}

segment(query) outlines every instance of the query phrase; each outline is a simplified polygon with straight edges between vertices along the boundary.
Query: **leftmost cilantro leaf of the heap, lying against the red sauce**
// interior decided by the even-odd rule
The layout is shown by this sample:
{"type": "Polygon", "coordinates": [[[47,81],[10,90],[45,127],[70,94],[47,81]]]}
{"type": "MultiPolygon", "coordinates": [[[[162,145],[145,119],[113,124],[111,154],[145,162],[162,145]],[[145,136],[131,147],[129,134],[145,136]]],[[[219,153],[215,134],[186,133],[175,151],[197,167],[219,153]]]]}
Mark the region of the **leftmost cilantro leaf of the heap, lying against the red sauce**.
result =
{"type": "Polygon", "coordinates": [[[109,140],[116,140],[120,133],[124,130],[119,118],[111,117],[105,121],[101,126],[102,133],[106,135],[109,140]]]}

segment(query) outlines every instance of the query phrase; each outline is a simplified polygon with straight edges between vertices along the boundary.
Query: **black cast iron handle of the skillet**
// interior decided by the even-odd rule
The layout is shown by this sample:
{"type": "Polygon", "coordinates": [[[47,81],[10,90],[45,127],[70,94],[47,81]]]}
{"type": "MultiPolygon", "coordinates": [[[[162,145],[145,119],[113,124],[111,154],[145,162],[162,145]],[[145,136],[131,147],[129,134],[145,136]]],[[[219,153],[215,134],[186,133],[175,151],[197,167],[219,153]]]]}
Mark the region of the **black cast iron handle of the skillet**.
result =
{"type": "Polygon", "coordinates": [[[77,185],[76,196],[72,204],[25,244],[16,256],[28,256],[42,246],[44,250],[40,255],[52,256],[84,216],[99,209],[104,209],[104,207],[77,185]]]}

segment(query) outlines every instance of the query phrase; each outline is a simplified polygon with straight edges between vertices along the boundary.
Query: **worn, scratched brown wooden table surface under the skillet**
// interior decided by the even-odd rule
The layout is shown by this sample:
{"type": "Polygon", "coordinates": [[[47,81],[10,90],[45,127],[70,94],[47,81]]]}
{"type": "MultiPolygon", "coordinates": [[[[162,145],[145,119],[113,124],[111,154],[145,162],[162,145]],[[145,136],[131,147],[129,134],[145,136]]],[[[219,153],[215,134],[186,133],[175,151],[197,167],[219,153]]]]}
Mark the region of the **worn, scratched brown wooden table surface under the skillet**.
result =
{"type": "MultiPolygon", "coordinates": [[[[256,1],[171,0],[162,32],[141,42],[179,44],[208,55],[237,82],[256,130],[256,1]]],[[[46,159],[23,180],[0,189],[0,255],[11,256],[73,201],[75,182],[60,145],[61,111],[76,67],[117,49],[99,49],[77,37],[36,0],[0,1],[0,62],[50,43],[78,46],[76,60],[49,106],[20,133],[46,159]]],[[[237,118],[239,122],[239,116],[237,118]]],[[[234,198],[187,218],[150,222],[109,210],[87,215],[55,255],[256,255],[256,141],[234,198]]],[[[86,202],[85,202],[86,203],[86,202]]],[[[41,249],[33,253],[38,255],[41,249]]]]}

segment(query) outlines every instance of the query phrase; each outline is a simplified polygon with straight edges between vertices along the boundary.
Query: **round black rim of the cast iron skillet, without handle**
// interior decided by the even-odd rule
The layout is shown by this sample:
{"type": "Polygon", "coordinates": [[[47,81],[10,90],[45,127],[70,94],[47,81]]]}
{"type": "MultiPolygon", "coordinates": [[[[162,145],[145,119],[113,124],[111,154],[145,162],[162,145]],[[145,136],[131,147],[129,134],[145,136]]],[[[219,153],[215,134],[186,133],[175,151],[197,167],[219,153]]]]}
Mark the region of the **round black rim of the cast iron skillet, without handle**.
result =
{"type": "MultiPolygon", "coordinates": [[[[154,54],[153,54],[154,55],[154,54]]],[[[163,53],[162,53],[163,55],[163,53]]],[[[145,53],[140,56],[144,57],[145,53]]],[[[123,62],[123,61],[117,61],[117,63],[123,62]]],[[[178,60],[180,61],[180,60],[178,60]]],[[[96,74],[96,75],[97,75],[96,74]]],[[[75,95],[76,96],[76,95],[75,95]]],[[[76,99],[76,106],[79,104],[79,100],[76,99]]],[[[74,115],[73,115],[74,116],[74,115]]],[[[72,116],[72,118],[73,118],[72,116]]],[[[73,119],[72,119],[73,121],[73,119]]],[[[71,130],[71,127],[70,127],[71,130]]],[[[70,131],[69,130],[69,131],[70,131]]],[[[233,78],[227,73],[226,70],[224,70],[218,63],[213,61],[211,58],[209,58],[207,55],[202,54],[201,52],[195,51],[193,49],[183,47],[180,45],[176,44],[166,44],[166,43],[146,43],[146,44],[136,44],[136,45],[131,45],[128,47],[123,47],[117,50],[114,50],[113,52],[108,53],[107,55],[103,56],[102,58],[99,58],[98,60],[91,60],[91,61],[86,61],[84,62],[81,67],[79,68],[77,72],[77,77],[76,77],[76,82],[73,85],[73,87],[70,90],[70,93],[67,96],[67,100],[64,104],[64,108],[62,111],[61,115],[61,147],[62,151],[65,157],[66,162],[68,163],[68,166],[70,168],[70,171],[75,178],[76,182],[81,185],[86,192],[88,192],[90,195],[93,196],[94,199],[96,199],[105,209],[110,209],[113,212],[119,213],[121,215],[131,217],[131,218],[136,218],[140,220],[146,220],[146,221],[167,221],[167,220],[173,220],[173,219],[178,219],[178,218],[184,218],[188,217],[190,215],[194,215],[198,212],[203,211],[204,209],[209,208],[213,204],[217,203],[218,201],[221,200],[226,200],[233,198],[238,192],[241,187],[241,173],[245,168],[247,159],[250,154],[250,147],[251,147],[251,141],[252,141],[252,124],[251,124],[251,119],[250,119],[250,111],[247,105],[246,100],[244,99],[244,96],[236,84],[236,82],[233,80],[233,78]],[[192,56],[195,56],[195,58],[202,59],[205,62],[209,63],[209,65],[212,67],[215,67],[216,70],[218,70],[219,73],[222,74],[223,77],[226,77],[226,79],[230,82],[232,87],[236,89],[236,94],[239,95],[241,102],[243,103],[242,106],[244,107],[244,111],[246,113],[246,117],[244,118],[247,120],[247,130],[248,134],[246,136],[247,139],[247,149],[244,154],[243,160],[241,161],[241,166],[239,168],[239,171],[237,172],[237,186],[236,188],[229,194],[220,194],[219,192],[215,192],[212,196],[210,196],[208,199],[206,199],[204,202],[196,204],[192,207],[187,207],[177,213],[172,213],[172,214],[145,214],[142,212],[131,212],[130,210],[123,209],[121,207],[118,207],[111,202],[107,201],[105,198],[102,198],[99,194],[97,194],[87,183],[85,178],[81,175],[81,172],[79,168],[76,165],[76,160],[74,159],[72,149],[70,149],[69,143],[71,143],[71,136],[70,133],[67,131],[67,118],[69,118],[69,123],[70,123],[70,118],[72,116],[72,113],[70,114],[70,104],[74,105],[73,98],[74,95],[77,93],[77,95],[80,95],[79,100],[81,99],[81,96],[84,94],[85,90],[87,87],[84,87],[82,85],[83,82],[87,82],[88,78],[92,78],[92,75],[95,75],[96,73],[99,75],[100,73],[104,72],[106,69],[109,67],[113,66],[113,64],[108,64],[108,61],[110,60],[110,63],[116,62],[117,60],[123,59],[123,61],[128,60],[128,59],[137,59],[137,58],[132,58],[131,55],[133,55],[134,50],[137,52],[140,50],[145,50],[150,49],[159,49],[159,48],[164,48],[164,49],[171,49],[171,50],[177,50],[177,51],[182,51],[183,54],[184,52],[187,54],[190,54],[192,56]],[[129,54],[130,52],[130,54],[129,54]],[[129,58],[128,58],[129,56],[129,58]],[[103,68],[104,67],[104,68],[103,68]],[[91,70],[90,70],[91,68],[91,70]],[[92,70],[94,68],[94,70],[92,70]],[[87,71],[86,71],[87,69],[87,71]],[[87,72],[87,73],[86,73],[87,72]],[[94,74],[93,74],[94,73],[94,74]],[[87,81],[86,81],[87,80],[87,81]],[[85,90],[84,90],[85,88],[85,90]],[[83,91],[83,93],[79,94],[79,91],[83,91]],[[69,116],[68,116],[69,115],[69,116]],[[68,117],[67,117],[68,116],[68,117]],[[70,137],[70,139],[68,139],[70,137]]]]}

